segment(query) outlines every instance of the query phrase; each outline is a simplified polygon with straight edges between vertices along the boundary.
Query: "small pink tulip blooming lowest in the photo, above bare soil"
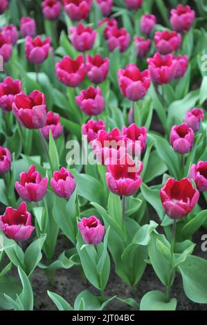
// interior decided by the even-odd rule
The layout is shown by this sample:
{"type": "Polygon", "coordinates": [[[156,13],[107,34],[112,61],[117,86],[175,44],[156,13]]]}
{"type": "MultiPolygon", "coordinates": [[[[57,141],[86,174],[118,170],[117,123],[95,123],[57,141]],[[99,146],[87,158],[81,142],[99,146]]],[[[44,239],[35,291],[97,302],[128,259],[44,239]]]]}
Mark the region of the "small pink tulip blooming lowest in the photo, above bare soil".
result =
{"type": "Polygon", "coordinates": [[[98,245],[105,235],[105,226],[96,216],[83,218],[78,222],[78,228],[83,240],[88,244],[98,245]]]}

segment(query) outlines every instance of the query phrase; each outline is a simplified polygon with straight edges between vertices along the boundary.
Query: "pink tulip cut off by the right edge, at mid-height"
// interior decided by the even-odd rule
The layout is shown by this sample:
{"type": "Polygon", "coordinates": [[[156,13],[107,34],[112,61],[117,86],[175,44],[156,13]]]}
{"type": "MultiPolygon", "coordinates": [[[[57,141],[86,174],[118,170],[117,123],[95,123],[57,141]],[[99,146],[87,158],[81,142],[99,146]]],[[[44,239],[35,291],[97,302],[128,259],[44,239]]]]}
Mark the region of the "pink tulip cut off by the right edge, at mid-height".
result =
{"type": "Polygon", "coordinates": [[[189,178],[195,181],[199,192],[207,191],[207,161],[199,161],[190,167],[189,178]]]}

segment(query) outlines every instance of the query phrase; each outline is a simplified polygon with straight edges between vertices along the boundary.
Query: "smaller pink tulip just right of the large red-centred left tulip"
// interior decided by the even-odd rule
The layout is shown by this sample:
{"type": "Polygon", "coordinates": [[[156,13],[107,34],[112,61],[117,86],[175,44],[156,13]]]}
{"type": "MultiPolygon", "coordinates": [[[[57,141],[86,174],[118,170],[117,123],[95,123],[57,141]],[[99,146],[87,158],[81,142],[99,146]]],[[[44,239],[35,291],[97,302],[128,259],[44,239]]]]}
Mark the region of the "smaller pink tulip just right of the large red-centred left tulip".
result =
{"type": "Polygon", "coordinates": [[[60,115],[54,114],[52,111],[47,113],[46,124],[41,129],[44,138],[48,139],[50,131],[53,134],[53,138],[57,139],[62,134],[62,124],[60,123],[60,115]]]}

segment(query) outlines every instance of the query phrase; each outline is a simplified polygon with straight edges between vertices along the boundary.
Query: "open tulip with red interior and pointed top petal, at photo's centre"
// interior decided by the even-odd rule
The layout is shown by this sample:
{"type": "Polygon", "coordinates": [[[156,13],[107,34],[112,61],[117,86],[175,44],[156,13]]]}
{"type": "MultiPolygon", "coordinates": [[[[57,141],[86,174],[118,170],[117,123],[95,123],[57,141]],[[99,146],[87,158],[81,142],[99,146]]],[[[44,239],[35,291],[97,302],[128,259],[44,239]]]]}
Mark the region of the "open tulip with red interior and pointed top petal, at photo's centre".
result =
{"type": "Polygon", "coordinates": [[[128,154],[117,160],[116,164],[107,165],[106,180],[110,191],[119,196],[131,196],[141,187],[143,163],[138,168],[128,154]]]}

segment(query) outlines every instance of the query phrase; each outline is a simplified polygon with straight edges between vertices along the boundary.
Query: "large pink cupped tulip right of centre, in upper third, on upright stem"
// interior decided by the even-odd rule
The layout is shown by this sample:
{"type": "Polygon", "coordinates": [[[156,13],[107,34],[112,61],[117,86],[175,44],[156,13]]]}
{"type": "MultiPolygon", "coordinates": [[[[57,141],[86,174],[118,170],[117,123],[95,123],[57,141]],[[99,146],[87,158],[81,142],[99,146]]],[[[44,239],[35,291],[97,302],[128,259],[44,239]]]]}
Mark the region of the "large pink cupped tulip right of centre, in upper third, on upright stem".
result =
{"type": "Polygon", "coordinates": [[[128,64],[126,69],[118,69],[120,91],[128,100],[141,100],[150,88],[149,71],[139,71],[136,64],[128,64]]]}

